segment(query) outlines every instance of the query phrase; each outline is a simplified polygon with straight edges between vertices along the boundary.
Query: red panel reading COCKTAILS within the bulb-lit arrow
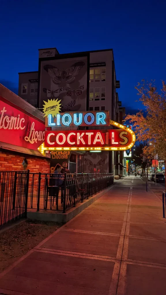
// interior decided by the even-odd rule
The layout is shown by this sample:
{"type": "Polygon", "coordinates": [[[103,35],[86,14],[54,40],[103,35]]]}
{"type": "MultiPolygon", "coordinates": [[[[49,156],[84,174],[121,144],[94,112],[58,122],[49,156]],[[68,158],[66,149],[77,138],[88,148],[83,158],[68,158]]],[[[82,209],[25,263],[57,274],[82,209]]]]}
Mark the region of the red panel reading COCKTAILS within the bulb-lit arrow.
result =
{"type": "Polygon", "coordinates": [[[126,149],[132,143],[130,132],[110,130],[65,130],[46,131],[45,147],[69,149],[126,149]]]}

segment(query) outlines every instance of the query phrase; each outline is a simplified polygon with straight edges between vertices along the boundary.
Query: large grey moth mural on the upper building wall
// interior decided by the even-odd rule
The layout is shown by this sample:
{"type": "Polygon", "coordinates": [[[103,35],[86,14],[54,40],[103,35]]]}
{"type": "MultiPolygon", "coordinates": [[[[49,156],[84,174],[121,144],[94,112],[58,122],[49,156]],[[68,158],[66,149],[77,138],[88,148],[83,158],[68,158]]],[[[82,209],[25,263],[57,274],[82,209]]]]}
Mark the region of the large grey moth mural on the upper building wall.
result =
{"type": "Polygon", "coordinates": [[[40,107],[58,97],[62,111],[86,110],[87,57],[41,61],[40,107]]]}

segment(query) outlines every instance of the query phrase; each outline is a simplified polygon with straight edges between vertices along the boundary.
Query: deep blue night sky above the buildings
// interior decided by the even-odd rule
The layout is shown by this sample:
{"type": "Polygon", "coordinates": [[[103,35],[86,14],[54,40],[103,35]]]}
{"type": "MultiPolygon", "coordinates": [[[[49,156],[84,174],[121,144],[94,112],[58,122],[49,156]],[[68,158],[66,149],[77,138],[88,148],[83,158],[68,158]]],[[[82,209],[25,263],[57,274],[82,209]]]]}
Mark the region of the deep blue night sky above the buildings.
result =
{"type": "Polygon", "coordinates": [[[0,83],[17,93],[18,72],[38,70],[38,49],[59,53],[113,48],[119,100],[136,103],[137,82],[166,80],[164,1],[1,0],[0,83]],[[2,29],[3,28],[3,29],[2,29]]]}

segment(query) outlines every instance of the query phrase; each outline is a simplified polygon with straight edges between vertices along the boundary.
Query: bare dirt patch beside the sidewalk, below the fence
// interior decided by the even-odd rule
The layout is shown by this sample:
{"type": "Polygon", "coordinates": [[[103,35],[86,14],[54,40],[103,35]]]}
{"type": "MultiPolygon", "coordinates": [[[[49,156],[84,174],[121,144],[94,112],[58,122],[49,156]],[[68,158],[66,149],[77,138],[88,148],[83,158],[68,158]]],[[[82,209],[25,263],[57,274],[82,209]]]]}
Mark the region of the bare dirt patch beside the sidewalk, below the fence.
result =
{"type": "Polygon", "coordinates": [[[62,224],[26,220],[0,233],[0,273],[62,224]]]}

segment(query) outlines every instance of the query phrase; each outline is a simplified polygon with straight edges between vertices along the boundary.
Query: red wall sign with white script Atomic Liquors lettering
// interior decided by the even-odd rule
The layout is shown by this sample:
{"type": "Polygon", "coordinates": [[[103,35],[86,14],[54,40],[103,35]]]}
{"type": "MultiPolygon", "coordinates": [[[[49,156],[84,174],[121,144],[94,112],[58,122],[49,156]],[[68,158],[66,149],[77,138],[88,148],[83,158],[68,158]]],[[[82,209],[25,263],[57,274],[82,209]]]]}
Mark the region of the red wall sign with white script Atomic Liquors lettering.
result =
{"type": "Polygon", "coordinates": [[[0,141],[31,150],[44,142],[44,123],[6,104],[0,96],[0,141]]]}

